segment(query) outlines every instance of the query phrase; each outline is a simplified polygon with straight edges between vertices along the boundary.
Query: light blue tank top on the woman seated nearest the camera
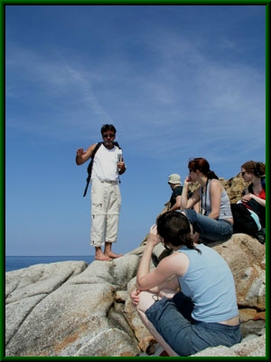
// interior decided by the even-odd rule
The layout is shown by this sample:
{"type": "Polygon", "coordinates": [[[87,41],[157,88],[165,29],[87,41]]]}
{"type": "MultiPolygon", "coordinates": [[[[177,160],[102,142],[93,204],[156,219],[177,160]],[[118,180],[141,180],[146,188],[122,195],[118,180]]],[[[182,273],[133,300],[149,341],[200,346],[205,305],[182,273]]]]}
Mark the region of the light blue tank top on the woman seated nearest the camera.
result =
{"type": "Polygon", "coordinates": [[[189,258],[186,273],[179,277],[182,292],[192,298],[192,318],[203,322],[221,322],[238,316],[235,283],[229,265],[219,252],[200,243],[197,248],[183,246],[189,258]]]}

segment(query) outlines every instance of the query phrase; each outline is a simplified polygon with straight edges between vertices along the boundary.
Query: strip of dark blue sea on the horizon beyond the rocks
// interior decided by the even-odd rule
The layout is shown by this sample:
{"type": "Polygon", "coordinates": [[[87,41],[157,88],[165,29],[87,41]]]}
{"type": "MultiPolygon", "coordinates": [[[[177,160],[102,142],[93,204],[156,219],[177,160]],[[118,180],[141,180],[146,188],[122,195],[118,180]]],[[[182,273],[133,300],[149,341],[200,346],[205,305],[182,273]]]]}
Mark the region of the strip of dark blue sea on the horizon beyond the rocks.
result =
{"type": "Polygon", "coordinates": [[[17,269],[28,268],[31,265],[50,262],[67,261],[94,261],[94,255],[76,255],[76,256],[5,256],[5,271],[15,271],[17,269]]]}

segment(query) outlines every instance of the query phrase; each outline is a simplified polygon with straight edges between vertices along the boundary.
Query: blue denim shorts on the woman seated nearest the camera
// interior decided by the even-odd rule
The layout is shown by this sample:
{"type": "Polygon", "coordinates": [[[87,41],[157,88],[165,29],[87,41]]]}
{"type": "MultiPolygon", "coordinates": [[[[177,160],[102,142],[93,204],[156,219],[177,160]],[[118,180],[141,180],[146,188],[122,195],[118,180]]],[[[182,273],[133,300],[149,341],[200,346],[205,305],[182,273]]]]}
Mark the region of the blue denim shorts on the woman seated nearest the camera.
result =
{"type": "Polygon", "coordinates": [[[196,321],[191,312],[192,300],[179,292],[172,300],[164,297],[155,301],[145,315],[168,345],[182,357],[209,347],[231,347],[241,341],[240,325],[196,321]]]}

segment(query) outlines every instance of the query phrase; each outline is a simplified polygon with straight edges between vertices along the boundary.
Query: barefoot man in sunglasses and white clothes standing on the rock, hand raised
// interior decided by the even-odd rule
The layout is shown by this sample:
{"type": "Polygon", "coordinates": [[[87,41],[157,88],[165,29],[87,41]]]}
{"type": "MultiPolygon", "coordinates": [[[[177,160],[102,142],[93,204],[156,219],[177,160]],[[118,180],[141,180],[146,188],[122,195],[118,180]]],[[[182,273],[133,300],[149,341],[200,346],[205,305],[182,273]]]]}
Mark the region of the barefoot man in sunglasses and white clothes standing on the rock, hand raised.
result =
{"type": "MultiPolygon", "coordinates": [[[[95,247],[95,259],[111,261],[122,254],[112,252],[117,242],[118,220],[121,206],[119,175],[126,171],[124,159],[117,157],[119,148],[114,144],[117,130],[113,125],[101,128],[103,142],[93,159],[91,174],[91,232],[90,245],[95,247]],[[105,244],[104,252],[101,247],[105,244]]],[[[76,152],[76,164],[82,165],[92,156],[97,144],[76,152]]]]}

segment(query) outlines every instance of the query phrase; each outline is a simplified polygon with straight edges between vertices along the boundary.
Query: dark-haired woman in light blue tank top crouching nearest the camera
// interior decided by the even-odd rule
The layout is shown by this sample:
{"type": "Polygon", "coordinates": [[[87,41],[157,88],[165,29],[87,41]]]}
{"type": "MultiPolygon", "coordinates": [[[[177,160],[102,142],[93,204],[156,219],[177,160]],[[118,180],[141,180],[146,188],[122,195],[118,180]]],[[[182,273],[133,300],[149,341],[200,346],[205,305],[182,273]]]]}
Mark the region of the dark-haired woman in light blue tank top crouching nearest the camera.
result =
{"type": "Polygon", "coordinates": [[[145,327],[170,357],[241,341],[229,265],[209,246],[193,242],[191,224],[182,213],[161,214],[151,227],[131,298],[145,327]],[[158,243],[173,253],[150,270],[158,243]]]}

